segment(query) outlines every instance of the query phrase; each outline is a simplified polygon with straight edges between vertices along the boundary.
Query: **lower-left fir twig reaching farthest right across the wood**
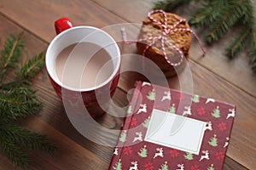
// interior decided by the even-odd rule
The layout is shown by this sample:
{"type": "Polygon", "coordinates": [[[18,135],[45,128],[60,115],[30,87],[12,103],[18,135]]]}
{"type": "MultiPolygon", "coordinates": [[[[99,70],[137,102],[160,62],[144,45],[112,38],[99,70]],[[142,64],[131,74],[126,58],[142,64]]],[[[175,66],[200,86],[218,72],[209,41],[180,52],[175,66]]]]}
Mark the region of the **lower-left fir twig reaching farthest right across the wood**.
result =
{"type": "Polygon", "coordinates": [[[15,141],[15,144],[21,144],[31,150],[41,150],[49,155],[55,155],[58,150],[56,145],[49,142],[46,136],[33,133],[24,127],[4,124],[1,128],[9,139],[15,141]]]}

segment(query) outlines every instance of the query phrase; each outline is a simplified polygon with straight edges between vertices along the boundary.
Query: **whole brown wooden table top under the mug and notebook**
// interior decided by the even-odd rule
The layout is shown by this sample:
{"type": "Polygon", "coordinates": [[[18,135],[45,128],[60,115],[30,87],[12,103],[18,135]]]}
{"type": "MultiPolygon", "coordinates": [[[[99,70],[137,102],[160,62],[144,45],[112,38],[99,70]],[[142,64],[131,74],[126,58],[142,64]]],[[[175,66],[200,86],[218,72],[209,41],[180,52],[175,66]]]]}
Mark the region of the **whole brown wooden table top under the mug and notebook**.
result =
{"type": "MultiPolygon", "coordinates": [[[[151,0],[1,0],[0,32],[1,48],[10,33],[25,32],[26,53],[30,57],[45,50],[55,37],[53,23],[67,16],[76,26],[87,25],[103,28],[114,24],[134,22],[140,24],[152,8],[151,0]]],[[[253,1],[255,3],[255,1],[253,1]]],[[[177,11],[188,16],[193,6],[177,11]]],[[[116,32],[119,34],[119,32],[116,32]]],[[[137,36],[134,31],[131,34],[137,36]]],[[[190,48],[189,66],[193,76],[194,94],[224,100],[236,105],[237,113],[230,139],[230,146],[224,169],[255,169],[256,167],[256,73],[251,69],[247,54],[241,53],[236,59],[224,56],[224,45],[234,32],[221,41],[207,46],[207,56],[201,57],[201,49],[194,40],[190,48]]],[[[199,32],[203,36],[203,32],[199,32]]],[[[122,53],[136,53],[135,46],[121,49],[122,53]]],[[[132,59],[122,62],[132,65],[132,59]]],[[[181,79],[185,80],[186,75],[181,79]]],[[[119,86],[113,99],[118,105],[127,105],[126,93],[142,77],[134,72],[121,75],[119,86]]],[[[168,79],[170,88],[180,89],[177,77],[168,79]]],[[[189,84],[188,84],[189,86],[189,84]]],[[[31,152],[31,169],[108,169],[113,155],[113,147],[95,144],[79,134],[69,122],[63,104],[57,98],[49,83],[45,68],[38,74],[33,87],[38,89],[38,98],[44,102],[44,110],[37,116],[30,116],[23,125],[35,132],[48,135],[60,147],[55,157],[41,152],[31,152]]],[[[185,89],[186,90],[186,89],[185,89]]],[[[114,111],[114,110],[112,110],[114,111]]],[[[119,110],[125,113],[125,110],[119,110]]],[[[119,129],[122,119],[104,115],[97,119],[105,127],[119,129]]],[[[113,143],[117,135],[109,135],[113,143]]],[[[0,169],[16,169],[4,156],[0,155],[0,169]]]]}

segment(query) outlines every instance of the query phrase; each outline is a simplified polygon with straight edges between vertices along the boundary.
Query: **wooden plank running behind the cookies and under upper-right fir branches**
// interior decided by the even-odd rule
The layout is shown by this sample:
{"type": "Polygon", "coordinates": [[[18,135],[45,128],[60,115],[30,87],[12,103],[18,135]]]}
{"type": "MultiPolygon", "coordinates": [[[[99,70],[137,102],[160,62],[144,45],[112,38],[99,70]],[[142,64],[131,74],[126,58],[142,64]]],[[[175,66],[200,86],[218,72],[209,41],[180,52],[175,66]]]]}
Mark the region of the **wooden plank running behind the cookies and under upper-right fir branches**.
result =
{"type": "MultiPolygon", "coordinates": [[[[103,8],[108,8],[114,14],[119,15],[122,19],[131,23],[139,23],[146,18],[148,11],[152,10],[153,3],[150,0],[145,1],[125,1],[125,0],[93,0],[101,5],[103,8]]],[[[256,0],[253,0],[256,7],[256,0]]],[[[196,8],[195,5],[190,7],[180,8],[174,13],[179,14],[185,18],[189,18],[191,11],[196,8]]],[[[198,32],[199,37],[203,37],[203,32],[198,32]]],[[[221,41],[214,43],[212,46],[206,46],[207,55],[201,57],[201,49],[198,42],[192,42],[189,54],[190,58],[196,63],[203,65],[207,70],[218,74],[226,81],[231,82],[238,88],[246,91],[256,97],[256,72],[251,69],[252,63],[246,53],[239,54],[236,59],[228,59],[225,56],[225,47],[230,42],[230,37],[235,36],[235,31],[230,31],[221,41]]],[[[201,38],[203,39],[203,38],[201,38]]]]}

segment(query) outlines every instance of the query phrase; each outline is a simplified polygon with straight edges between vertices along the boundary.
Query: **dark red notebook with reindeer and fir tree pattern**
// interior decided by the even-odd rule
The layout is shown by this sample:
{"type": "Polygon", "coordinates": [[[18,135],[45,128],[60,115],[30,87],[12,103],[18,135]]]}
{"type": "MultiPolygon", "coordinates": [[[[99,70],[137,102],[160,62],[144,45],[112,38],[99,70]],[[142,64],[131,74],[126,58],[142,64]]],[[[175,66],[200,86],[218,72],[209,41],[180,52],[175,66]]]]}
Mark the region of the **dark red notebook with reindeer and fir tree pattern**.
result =
{"type": "Polygon", "coordinates": [[[236,106],[137,82],[109,170],[222,169],[236,106]]]}

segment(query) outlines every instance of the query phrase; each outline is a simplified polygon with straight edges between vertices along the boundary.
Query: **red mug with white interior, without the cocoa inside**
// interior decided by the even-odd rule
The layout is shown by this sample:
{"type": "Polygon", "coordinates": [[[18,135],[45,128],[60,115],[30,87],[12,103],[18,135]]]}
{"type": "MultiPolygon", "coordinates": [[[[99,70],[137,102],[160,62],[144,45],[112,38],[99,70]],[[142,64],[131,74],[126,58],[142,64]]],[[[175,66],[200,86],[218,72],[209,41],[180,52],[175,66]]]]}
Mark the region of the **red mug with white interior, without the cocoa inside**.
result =
{"type": "MultiPolygon", "coordinates": [[[[57,36],[49,43],[45,55],[45,64],[49,80],[56,94],[62,99],[66,111],[72,114],[101,116],[108,110],[109,100],[119,82],[120,52],[117,43],[107,32],[92,26],[73,26],[67,18],[55,21],[57,36]],[[55,60],[64,48],[79,42],[90,42],[104,48],[113,65],[113,71],[104,82],[90,88],[73,88],[60,80],[55,71],[55,60]]],[[[75,49],[75,48],[74,48],[75,49]]],[[[73,50],[74,50],[73,49],[73,50]]],[[[86,53],[86,51],[84,51],[86,53]]],[[[68,65],[68,60],[65,64],[68,65]]],[[[65,66],[65,68],[66,68],[65,66]]],[[[80,73],[78,73],[80,74],[80,73]]],[[[68,82],[68,79],[66,80],[68,82]]],[[[78,82],[79,83],[79,82],[78,82]]]]}

